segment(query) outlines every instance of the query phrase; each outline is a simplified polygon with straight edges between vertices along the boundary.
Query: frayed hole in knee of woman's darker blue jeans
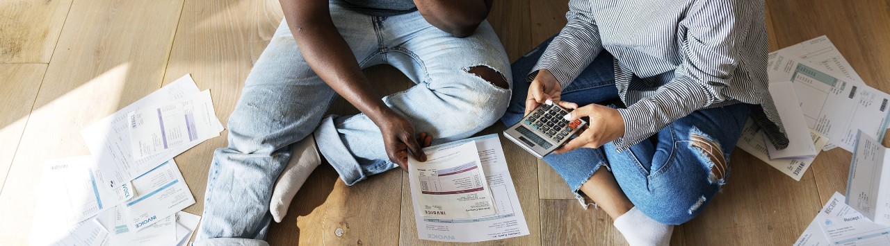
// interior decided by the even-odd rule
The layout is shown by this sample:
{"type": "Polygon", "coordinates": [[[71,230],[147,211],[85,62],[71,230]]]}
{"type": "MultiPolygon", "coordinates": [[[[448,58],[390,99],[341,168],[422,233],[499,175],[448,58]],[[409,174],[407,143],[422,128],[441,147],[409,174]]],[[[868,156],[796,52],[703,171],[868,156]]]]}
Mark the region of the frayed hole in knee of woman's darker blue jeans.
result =
{"type": "Polygon", "coordinates": [[[701,162],[709,169],[708,181],[718,186],[724,185],[726,178],[726,158],[720,144],[704,133],[692,133],[689,136],[690,146],[699,150],[701,162]]]}

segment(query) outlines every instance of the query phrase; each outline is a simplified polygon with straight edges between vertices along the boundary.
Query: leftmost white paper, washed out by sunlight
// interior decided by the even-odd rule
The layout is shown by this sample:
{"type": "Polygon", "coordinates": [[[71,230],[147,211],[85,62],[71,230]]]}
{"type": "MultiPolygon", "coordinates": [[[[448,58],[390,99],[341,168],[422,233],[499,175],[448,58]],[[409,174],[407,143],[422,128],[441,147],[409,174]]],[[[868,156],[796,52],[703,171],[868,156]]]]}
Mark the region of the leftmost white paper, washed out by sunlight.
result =
{"type": "Polygon", "coordinates": [[[53,214],[55,223],[72,226],[133,197],[130,185],[102,186],[97,173],[89,155],[47,160],[36,189],[36,212],[53,214]]]}

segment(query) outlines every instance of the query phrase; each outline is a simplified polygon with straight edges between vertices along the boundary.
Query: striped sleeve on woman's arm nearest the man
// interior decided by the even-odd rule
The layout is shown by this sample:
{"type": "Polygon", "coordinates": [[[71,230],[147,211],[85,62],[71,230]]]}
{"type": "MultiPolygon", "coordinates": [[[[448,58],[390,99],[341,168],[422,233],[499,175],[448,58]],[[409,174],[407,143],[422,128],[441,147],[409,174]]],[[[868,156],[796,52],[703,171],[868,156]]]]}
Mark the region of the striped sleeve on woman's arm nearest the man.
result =
{"type": "Polygon", "coordinates": [[[528,80],[543,68],[559,80],[562,88],[566,88],[603,51],[600,32],[590,7],[589,0],[569,1],[569,12],[565,14],[569,23],[547,46],[538,64],[531,69],[528,80]]]}

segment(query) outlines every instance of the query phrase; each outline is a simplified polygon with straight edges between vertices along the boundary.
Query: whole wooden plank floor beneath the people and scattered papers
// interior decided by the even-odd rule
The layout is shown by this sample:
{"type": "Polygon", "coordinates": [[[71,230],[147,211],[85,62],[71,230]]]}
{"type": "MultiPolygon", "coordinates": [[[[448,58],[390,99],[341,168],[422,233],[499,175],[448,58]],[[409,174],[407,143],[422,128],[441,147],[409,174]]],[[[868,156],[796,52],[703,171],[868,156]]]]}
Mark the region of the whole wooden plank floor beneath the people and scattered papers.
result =
{"type": "MultiPolygon", "coordinates": [[[[492,26],[511,60],[553,36],[567,0],[496,1],[492,26]]],[[[769,0],[770,50],[827,35],[866,83],[890,92],[890,1],[769,0]]],[[[191,74],[226,122],[242,83],[281,20],[278,1],[0,1],[0,244],[28,242],[33,186],[46,159],[89,155],[79,131],[166,83],[191,74]]],[[[411,83],[372,67],[386,91],[411,83]],[[385,84],[383,82],[386,82],[385,84]]],[[[343,100],[332,112],[355,109],[343,100]]],[[[504,129],[500,123],[483,133],[504,129]]],[[[203,208],[206,171],[223,136],[176,157],[203,208]]],[[[507,162],[531,234],[490,245],[615,245],[624,239],[601,210],[583,210],[546,163],[505,139],[507,162]]],[[[742,151],[732,178],[699,218],[676,226],[673,245],[788,245],[830,194],[845,190],[851,154],[823,152],[794,181],[742,151]]],[[[417,245],[408,177],[389,171],[347,187],[315,171],[272,245],[417,245]],[[342,228],[344,234],[334,231],[342,228]]],[[[237,194],[236,194],[237,195],[237,194]]]]}

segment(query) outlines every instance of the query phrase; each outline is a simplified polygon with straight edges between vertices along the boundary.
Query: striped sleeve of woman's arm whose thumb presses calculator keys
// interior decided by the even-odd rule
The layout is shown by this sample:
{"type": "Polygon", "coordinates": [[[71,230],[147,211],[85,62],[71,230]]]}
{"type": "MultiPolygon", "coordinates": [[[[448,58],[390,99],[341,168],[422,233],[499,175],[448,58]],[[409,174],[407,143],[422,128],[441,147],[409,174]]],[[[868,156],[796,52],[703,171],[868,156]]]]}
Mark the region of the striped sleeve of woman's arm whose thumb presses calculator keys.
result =
{"type": "Polygon", "coordinates": [[[618,109],[625,134],[613,142],[617,148],[633,146],[676,119],[731,99],[724,90],[732,76],[745,73],[737,69],[742,62],[740,44],[748,36],[755,6],[742,0],[698,1],[692,6],[680,23],[688,28],[683,63],[676,67],[674,79],[648,98],[618,109]]]}

